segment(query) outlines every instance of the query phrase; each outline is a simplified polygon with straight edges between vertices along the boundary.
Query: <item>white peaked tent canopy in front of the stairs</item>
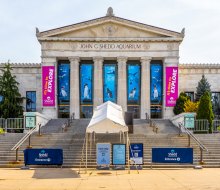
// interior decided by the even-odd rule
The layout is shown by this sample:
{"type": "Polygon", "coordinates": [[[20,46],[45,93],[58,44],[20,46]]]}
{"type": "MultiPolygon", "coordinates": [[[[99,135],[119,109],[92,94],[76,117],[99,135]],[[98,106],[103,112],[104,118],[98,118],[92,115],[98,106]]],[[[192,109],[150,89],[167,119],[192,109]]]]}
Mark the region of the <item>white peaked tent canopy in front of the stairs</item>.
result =
{"type": "Polygon", "coordinates": [[[125,125],[122,107],[113,103],[105,102],[97,106],[92,119],[86,129],[86,133],[124,133],[128,132],[125,125]]]}

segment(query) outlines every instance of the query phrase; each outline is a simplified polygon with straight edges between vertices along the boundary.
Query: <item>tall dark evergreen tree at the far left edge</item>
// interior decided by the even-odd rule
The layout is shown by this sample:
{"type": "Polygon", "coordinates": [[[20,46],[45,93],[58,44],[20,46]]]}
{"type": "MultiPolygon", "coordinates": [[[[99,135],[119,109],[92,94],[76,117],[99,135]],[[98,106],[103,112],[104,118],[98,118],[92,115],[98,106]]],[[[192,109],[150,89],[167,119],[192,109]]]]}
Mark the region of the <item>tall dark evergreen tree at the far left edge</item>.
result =
{"type": "Polygon", "coordinates": [[[19,93],[16,77],[11,74],[12,68],[8,63],[1,69],[0,76],[0,117],[2,118],[16,118],[23,115],[22,102],[24,97],[19,93]]]}

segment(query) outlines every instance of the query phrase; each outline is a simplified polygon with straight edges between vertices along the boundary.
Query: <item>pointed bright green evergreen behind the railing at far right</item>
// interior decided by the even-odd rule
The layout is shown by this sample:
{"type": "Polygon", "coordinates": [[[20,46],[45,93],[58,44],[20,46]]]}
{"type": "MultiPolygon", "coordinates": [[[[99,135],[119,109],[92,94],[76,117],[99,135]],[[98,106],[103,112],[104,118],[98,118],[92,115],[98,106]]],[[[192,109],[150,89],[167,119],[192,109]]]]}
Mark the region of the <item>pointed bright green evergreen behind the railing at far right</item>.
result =
{"type": "Polygon", "coordinates": [[[200,98],[200,103],[196,115],[197,119],[207,119],[209,121],[209,132],[212,132],[212,121],[214,119],[214,114],[212,111],[212,102],[210,93],[205,92],[200,98]]]}

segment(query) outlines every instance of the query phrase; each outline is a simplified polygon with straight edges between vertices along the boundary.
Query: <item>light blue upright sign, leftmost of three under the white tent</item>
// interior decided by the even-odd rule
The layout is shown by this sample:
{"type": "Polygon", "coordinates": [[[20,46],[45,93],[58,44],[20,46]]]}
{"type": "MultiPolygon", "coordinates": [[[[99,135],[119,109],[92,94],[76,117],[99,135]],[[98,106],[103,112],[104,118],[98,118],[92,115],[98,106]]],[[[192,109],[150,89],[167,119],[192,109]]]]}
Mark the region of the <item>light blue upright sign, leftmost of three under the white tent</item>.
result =
{"type": "Polygon", "coordinates": [[[96,144],[96,162],[97,165],[110,165],[110,143],[97,143],[96,144]]]}

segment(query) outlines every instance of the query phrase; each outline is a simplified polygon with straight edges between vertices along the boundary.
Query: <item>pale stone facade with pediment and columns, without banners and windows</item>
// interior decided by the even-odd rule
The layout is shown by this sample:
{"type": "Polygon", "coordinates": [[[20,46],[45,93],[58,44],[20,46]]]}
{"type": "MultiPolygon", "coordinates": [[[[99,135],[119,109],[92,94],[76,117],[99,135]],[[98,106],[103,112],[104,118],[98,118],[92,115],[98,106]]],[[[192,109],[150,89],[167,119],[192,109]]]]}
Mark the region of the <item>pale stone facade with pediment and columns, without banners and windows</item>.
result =
{"type": "MultiPolygon", "coordinates": [[[[141,65],[140,118],[150,113],[150,63],[160,60],[163,64],[162,118],[173,116],[173,108],[165,106],[165,81],[167,66],[179,66],[179,92],[195,91],[202,74],[208,78],[212,90],[220,92],[219,65],[179,65],[179,45],[184,38],[182,32],[137,23],[107,14],[94,20],[36,32],[41,44],[41,64],[12,64],[13,74],[20,83],[22,96],[26,91],[36,91],[37,110],[51,118],[58,117],[58,101],[55,107],[42,106],[41,66],[55,66],[60,60],[70,63],[70,113],[80,118],[79,65],[80,61],[91,60],[94,64],[93,107],[103,102],[103,62],[114,60],[118,66],[117,103],[127,110],[127,73],[129,60],[141,65]]],[[[0,64],[0,68],[3,65],[0,64]]],[[[55,80],[57,92],[57,79],[55,80]]],[[[57,93],[56,93],[57,95],[57,93]]],[[[25,103],[24,103],[25,107],[25,103]]]]}

